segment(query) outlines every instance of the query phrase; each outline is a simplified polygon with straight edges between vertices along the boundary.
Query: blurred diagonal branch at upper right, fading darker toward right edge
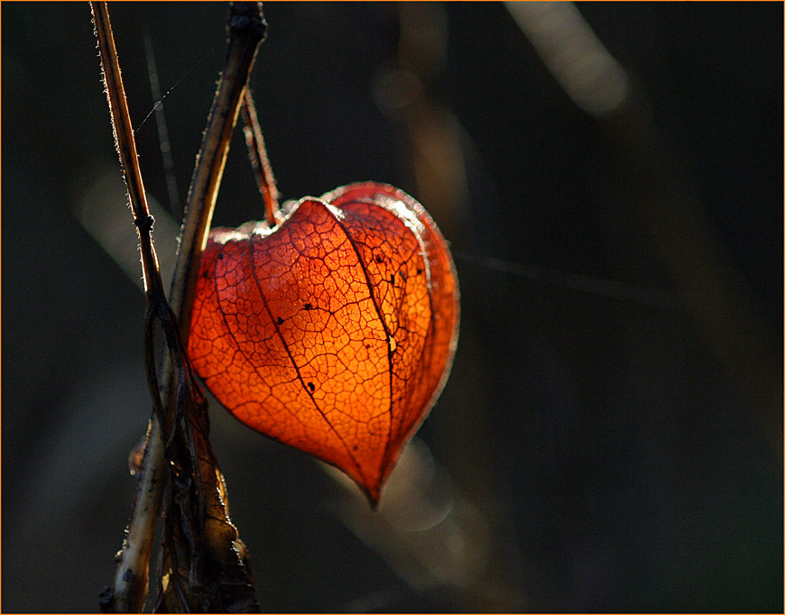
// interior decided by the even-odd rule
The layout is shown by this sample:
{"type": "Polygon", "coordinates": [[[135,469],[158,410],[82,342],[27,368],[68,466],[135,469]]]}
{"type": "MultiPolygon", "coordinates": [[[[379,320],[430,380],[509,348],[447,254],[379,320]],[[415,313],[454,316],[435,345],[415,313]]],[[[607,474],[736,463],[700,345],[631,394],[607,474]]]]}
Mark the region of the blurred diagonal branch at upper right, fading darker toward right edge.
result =
{"type": "Polygon", "coordinates": [[[616,162],[619,190],[627,197],[622,207],[632,211],[642,232],[651,236],[717,361],[759,415],[772,464],[780,467],[781,369],[776,344],[770,341],[773,332],[762,324],[695,188],[679,171],[678,155],[663,142],[645,93],[573,3],[505,5],[559,86],[596,121],[598,135],[616,162]]]}

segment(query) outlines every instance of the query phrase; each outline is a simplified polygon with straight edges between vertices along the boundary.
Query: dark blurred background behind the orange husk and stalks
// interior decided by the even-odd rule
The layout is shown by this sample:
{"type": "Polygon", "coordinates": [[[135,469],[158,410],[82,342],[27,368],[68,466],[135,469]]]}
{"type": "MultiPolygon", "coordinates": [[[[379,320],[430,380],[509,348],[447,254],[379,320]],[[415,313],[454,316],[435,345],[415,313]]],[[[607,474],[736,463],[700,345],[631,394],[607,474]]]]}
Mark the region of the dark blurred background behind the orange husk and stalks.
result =
{"type": "MultiPolygon", "coordinates": [[[[633,84],[611,115],[570,100],[503,5],[265,5],[253,87],[283,196],[410,191],[453,243],[463,314],[421,490],[402,465],[375,517],[212,408],[264,610],[781,612],[782,5],[579,10],[633,84]]],[[[145,32],[177,83],[181,201],[226,5],[110,12],[134,122],[145,32]]],[[[87,3],[2,17],[2,609],[91,611],[150,402],[143,295],[79,219],[132,261],[134,228],[87,3]]],[[[137,134],[171,207],[155,117],[137,134]]],[[[236,139],[215,222],[261,216],[236,139]]]]}

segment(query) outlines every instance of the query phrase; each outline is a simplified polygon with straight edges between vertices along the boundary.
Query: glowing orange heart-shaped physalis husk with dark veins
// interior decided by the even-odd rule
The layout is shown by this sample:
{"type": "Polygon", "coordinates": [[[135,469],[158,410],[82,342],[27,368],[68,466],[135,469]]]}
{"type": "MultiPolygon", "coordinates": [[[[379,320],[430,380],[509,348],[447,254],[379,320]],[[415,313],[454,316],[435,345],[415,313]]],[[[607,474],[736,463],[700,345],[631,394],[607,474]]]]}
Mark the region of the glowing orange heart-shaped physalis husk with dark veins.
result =
{"type": "Polygon", "coordinates": [[[335,465],[376,505],[447,380],[458,289],[414,198],[374,182],[214,229],[189,356],[248,427],[335,465]]]}

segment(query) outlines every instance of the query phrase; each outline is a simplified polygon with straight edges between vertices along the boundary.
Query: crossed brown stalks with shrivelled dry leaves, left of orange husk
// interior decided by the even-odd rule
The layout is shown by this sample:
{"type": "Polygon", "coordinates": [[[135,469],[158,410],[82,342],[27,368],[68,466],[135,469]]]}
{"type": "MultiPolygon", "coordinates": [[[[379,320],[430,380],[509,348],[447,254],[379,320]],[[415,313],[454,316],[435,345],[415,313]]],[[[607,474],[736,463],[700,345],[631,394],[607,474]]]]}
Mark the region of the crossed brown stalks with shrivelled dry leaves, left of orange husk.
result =
{"type": "MultiPolygon", "coordinates": [[[[191,179],[187,216],[169,302],[164,297],[152,245],[152,216],[144,198],[134,133],[125,103],[106,3],[91,3],[91,9],[115,130],[115,144],[123,165],[134,222],[142,245],[147,297],[145,362],[155,408],[148,430],[134,509],[123,548],[118,554],[115,581],[102,594],[102,608],[115,612],[142,610],[148,592],[152,537],[162,511],[162,491],[166,484],[169,516],[164,529],[162,559],[166,560],[168,569],[161,572],[169,575],[172,583],[168,588],[173,588],[172,591],[179,597],[179,608],[215,610],[217,606],[223,606],[226,610],[229,607],[232,610],[258,609],[253,588],[244,590],[242,595],[235,589],[226,591],[227,586],[235,588],[240,577],[244,582],[247,581],[249,574],[245,571],[243,561],[245,549],[228,518],[226,488],[209,448],[203,399],[193,381],[184,349],[188,344],[190,307],[199,273],[199,259],[207,242],[231,133],[256,49],[264,37],[261,6],[255,3],[230,5],[226,62],[191,179]],[[169,348],[169,353],[162,356],[161,371],[158,372],[160,377],[155,371],[156,324],[162,326],[169,348]],[[178,496],[179,509],[172,504],[174,496],[178,496]],[[183,501],[186,504],[182,504],[183,501]],[[173,538],[175,534],[180,538],[188,538],[188,548],[182,548],[186,541],[173,538]],[[180,555],[186,555],[192,561],[179,561],[180,555]],[[203,557],[218,562],[220,572],[212,585],[205,580],[203,571],[199,570],[198,564],[204,565],[205,562],[203,557]],[[180,583],[182,566],[189,568],[187,586],[180,583]],[[237,570],[241,571],[239,576],[237,570]],[[172,571],[173,576],[169,574],[172,571]]],[[[177,608],[177,605],[171,606],[177,608]]]]}

